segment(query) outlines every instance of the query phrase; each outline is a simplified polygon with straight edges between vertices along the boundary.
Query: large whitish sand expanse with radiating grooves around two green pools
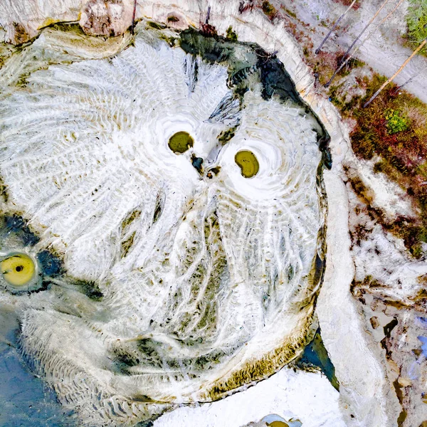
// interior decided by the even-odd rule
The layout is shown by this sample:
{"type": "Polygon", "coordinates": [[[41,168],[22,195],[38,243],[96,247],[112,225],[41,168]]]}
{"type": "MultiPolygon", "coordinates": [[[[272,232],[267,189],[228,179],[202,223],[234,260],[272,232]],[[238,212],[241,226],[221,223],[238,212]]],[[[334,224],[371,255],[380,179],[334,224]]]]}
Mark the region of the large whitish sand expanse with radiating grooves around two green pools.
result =
{"type": "Polygon", "coordinates": [[[50,65],[1,91],[3,209],[64,262],[45,309],[23,312],[21,351],[83,425],[219,399],[310,337],[325,255],[316,120],[263,99],[247,69],[239,95],[227,64],[140,27],[117,56],[50,65]],[[194,147],[172,152],[176,132],[194,147]],[[259,163],[250,179],[235,162],[245,149],[259,163]],[[102,300],[73,303],[75,280],[102,300]]]}

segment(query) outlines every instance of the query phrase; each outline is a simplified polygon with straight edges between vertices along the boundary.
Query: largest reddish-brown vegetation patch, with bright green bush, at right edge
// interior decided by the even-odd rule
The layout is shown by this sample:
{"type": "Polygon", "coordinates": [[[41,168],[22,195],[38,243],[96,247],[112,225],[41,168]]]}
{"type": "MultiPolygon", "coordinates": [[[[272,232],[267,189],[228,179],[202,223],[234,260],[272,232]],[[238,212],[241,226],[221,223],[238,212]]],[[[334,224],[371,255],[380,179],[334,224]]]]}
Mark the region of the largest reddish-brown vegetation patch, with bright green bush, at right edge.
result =
{"type": "Polygon", "coordinates": [[[427,243],[427,105],[404,91],[396,93],[396,86],[389,85],[369,107],[361,107],[384,80],[374,75],[365,82],[367,95],[352,110],[357,125],[350,137],[359,157],[380,157],[374,172],[396,181],[421,211],[416,220],[399,217],[385,225],[418,258],[421,242],[427,243]]]}

